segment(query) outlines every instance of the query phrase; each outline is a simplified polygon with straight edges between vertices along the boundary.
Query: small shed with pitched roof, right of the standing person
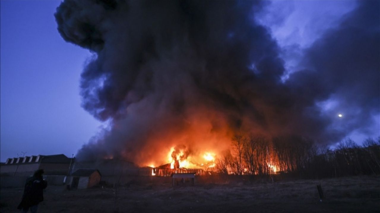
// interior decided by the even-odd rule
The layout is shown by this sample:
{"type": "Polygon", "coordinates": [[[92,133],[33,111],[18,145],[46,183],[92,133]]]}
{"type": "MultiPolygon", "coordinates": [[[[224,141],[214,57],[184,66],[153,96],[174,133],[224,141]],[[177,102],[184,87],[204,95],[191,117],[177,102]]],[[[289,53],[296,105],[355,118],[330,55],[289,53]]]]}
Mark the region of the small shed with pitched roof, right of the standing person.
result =
{"type": "Polygon", "coordinates": [[[101,174],[97,169],[78,169],[71,174],[71,189],[88,189],[99,184],[101,174]]]}

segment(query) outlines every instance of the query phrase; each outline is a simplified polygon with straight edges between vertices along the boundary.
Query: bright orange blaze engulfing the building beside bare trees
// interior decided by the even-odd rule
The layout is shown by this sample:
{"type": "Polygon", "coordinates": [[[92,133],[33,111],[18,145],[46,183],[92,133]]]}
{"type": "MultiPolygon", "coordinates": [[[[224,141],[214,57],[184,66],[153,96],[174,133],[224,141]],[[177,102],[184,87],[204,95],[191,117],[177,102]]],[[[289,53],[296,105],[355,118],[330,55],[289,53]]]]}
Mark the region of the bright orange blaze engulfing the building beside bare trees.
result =
{"type": "Polygon", "coordinates": [[[197,116],[187,120],[186,128],[168,128],[148,135],[149,143],[139,148],[144,152],[134,152],[133,160],[140,162],[140,166],[155,165],[152,167],[155,176],[198,171],[262,175],[279,171],[273,144],[265,136],[253,137],[246,133],[239,145],[241,159],[237,160],[233,131],[222,121],[217,122],[216,128],[207,119],[199,119],[207,117],[199,113],[193,113],[197,116]]]}

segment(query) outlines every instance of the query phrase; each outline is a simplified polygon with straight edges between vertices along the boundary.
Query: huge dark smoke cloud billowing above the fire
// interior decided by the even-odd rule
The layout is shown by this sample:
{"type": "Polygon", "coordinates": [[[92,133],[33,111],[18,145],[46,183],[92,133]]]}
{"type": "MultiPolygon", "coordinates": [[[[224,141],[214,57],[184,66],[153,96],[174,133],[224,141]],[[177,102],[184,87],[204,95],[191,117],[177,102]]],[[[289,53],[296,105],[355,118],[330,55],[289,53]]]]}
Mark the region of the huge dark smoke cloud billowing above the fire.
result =
{"type": "MultiPolygon", "coordinates": [[[[81,75],[83,107],[111,121],[78,157],[142,159],[154,151],[141,150],[198,129],[331,142],[366,126],[379,112],[379,7],[373,4],[362,3],[315,42],[304,60],[310,69],[282,83],[279,46],[254,20],[261,2],[65,0],[55,13],[60,34],[94,53],[81,75]],[[330,130],[335,118],[316,103],[332,95],[359,107],[363,117],[330,130]]],[[[178,141],[191,146],[189,137],[178,141]]]]}

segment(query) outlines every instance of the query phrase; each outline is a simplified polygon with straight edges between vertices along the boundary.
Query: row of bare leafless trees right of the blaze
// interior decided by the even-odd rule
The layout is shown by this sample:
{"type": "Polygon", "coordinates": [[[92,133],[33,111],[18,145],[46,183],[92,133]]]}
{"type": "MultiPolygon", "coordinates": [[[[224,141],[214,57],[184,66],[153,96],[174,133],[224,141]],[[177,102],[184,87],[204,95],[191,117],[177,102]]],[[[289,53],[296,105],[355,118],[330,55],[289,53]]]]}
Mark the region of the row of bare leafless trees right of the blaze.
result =
{"type": "Polygon", "coordinates": [[[345,139],[331,150],[301,136],[235,135],[231,148],[217,160],[220,173],[299,178],[380,174],[380,137],[366,139],[363,146],[345,139]]]}

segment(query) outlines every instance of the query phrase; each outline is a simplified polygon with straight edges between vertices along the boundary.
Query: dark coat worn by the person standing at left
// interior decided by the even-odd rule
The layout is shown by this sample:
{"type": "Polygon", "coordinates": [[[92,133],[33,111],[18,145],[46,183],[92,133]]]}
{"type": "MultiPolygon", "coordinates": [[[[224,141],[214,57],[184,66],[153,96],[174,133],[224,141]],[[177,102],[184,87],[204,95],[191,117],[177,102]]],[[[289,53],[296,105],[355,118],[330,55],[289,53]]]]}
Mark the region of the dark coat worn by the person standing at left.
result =
{"type": "Polygon", "coordinates": [[[28,178],[25,183],[24,195],[22,195],[22,200],[18,209],[27,209],[43,201],[43,189],[46,187],[47,182],[41,176],[28,178]]]}

